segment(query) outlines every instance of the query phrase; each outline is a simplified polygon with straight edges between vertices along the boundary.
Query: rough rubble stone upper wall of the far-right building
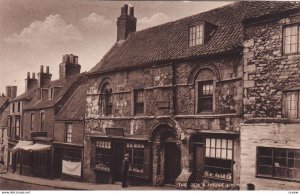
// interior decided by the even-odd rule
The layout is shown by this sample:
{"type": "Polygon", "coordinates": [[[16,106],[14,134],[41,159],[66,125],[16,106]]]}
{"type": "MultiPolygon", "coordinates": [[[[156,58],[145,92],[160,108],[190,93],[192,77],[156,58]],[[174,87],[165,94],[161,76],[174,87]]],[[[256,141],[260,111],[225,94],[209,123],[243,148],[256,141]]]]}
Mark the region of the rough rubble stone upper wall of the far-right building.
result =
{"type": "Polygon", "coordinates": [[[300,55],[283,53],[283,26],[297,22],[295,15],[245,27],[246,117],[282,117],[282,91],[300,82],[300,55]]]}

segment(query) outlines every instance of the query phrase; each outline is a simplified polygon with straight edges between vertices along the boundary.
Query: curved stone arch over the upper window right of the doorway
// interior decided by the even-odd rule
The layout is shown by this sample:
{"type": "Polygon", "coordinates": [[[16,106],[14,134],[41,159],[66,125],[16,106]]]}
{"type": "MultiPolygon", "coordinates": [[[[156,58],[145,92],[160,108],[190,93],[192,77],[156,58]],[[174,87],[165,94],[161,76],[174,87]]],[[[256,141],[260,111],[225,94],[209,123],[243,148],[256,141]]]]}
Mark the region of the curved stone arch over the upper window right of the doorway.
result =
{"type": "Polygon", "coordinates": [[[206,62],[203,62],[203,63],[200,63],[200,64],[196,64],[194,66],[194,68],[192,69],[192,71],[189,75],[188,84],[189,85],[194,85],[198,74],[203,70],[212,71],[215,75],[215,78],[217,80],[220,80],[220,72],[219,72],[219,69],[218,69],[217,65],[212,61],[206,61],[206,62]]]}

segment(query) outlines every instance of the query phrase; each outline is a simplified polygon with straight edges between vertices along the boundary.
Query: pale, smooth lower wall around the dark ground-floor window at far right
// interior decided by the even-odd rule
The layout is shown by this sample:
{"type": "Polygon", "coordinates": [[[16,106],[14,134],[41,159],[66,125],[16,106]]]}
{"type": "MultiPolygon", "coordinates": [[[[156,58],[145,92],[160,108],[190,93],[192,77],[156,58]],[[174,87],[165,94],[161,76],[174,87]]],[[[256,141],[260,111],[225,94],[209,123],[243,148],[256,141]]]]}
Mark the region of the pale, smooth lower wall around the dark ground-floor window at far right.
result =
{"type": "Polygon", "coordinates": [[[256,178],[256,148],[258,146],[300,149],[299,123],[254,123],[241,127],[241,185],[252,183],[257,190],[297,190],[299,183],[256,178]]]}

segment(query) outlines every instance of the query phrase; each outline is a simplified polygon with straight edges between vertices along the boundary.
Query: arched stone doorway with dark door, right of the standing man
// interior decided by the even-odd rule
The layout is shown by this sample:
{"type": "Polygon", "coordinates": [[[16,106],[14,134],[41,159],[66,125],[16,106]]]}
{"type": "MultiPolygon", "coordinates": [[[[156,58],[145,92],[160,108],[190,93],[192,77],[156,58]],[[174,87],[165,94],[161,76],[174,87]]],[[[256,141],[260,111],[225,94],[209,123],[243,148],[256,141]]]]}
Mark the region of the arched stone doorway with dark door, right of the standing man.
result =
{"type": "Polygon", "coordinates": [[[167,124],[157,126],[151,134],[153,142],[153,183],[175,184],[181,172],[180,140],[167,124]]]}

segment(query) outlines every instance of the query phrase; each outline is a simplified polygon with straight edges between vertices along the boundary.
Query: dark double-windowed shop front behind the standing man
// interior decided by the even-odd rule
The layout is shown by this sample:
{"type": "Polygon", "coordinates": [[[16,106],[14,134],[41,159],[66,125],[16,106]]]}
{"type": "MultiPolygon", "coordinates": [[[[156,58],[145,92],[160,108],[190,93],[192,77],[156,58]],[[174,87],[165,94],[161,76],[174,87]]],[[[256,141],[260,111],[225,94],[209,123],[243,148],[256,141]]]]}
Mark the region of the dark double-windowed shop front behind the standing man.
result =
{"type": "MultiPolygon", "coordinates": [[[[108,132],[110,129],[106,129],[108,132]]],[[[113,129],[115,130],[115,129],[113,129]]],[[[122,131],[122,129],[117,129],[122,131]]],[[[122,181],[122,161],[129,154],[128,182],[151,184],[150,143],[147,139],[124,137],[115,132],[109,136],[92,137],[93,171],[96,183],[122,181]]]]}

